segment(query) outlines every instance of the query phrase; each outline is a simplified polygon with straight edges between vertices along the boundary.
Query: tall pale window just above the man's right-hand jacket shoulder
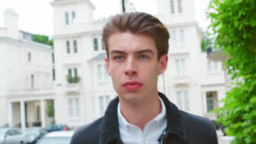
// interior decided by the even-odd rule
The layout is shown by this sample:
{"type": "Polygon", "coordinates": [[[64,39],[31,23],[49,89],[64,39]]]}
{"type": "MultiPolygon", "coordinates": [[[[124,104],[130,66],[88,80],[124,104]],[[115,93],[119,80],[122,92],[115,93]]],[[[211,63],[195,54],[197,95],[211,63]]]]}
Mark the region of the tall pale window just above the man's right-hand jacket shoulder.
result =
{"type": "Polygon", "coordinates": [[[176,92],[176,97],[177,97],[177,106],[179,110],[185,110],[189,111],[189,96],[188,96],[188,91],[178,91],[176,92]]]}

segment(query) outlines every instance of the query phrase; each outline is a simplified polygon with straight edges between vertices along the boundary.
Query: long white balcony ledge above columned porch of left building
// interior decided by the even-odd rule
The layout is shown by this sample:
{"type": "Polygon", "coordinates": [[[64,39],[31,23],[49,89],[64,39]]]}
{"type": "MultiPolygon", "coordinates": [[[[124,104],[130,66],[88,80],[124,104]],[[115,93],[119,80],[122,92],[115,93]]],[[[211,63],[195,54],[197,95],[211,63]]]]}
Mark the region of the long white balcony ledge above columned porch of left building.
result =
{"type": "Polygon", "coordinates": [[[14,89],[9,92],[10,97],[29,96],[29,95],[48,95],[54,94],[54,89],[50,88],[32,88],[32,89],[14,89]]]}

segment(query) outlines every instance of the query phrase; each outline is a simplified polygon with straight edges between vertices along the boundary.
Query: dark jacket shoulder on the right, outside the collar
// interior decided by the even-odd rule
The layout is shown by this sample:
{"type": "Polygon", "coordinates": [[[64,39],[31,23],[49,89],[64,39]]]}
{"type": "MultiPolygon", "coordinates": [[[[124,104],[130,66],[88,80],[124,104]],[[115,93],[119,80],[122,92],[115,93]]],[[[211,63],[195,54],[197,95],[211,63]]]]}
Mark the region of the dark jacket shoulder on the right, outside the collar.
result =
{"type": "Polygon", "coordinates": [[[216,127],[210,119],[192,115],[184,111],[180,111],[180,113],[189,139],[192,137],[202,137],[204,140],[217,143],[216,127]]]}

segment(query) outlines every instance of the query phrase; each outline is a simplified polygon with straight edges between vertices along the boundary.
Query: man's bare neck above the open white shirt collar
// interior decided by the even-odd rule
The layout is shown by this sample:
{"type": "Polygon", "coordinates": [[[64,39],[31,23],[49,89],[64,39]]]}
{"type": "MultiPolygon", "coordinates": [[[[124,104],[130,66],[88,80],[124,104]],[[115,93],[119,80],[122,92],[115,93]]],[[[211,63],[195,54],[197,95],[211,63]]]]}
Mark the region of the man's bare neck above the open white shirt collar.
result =
{"type": "Polygon", "coordinates": [[[143,131],[146,124],[161,113],[161,103],[158,94],[143,103],[136,104],[120,99],[120,109],[127,122],[136,125],[143,131]]]}

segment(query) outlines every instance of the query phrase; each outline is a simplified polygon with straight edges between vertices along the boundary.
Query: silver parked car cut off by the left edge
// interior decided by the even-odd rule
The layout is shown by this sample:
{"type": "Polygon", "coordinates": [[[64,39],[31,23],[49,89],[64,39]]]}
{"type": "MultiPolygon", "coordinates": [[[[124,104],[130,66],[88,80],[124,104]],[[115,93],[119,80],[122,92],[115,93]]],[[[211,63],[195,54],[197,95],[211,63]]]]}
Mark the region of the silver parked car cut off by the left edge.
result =
{"type": "Polygon", "coordinates": [[[26,143],[25,136],[18,128],[0,128],[0,144],[26,143]]]}

